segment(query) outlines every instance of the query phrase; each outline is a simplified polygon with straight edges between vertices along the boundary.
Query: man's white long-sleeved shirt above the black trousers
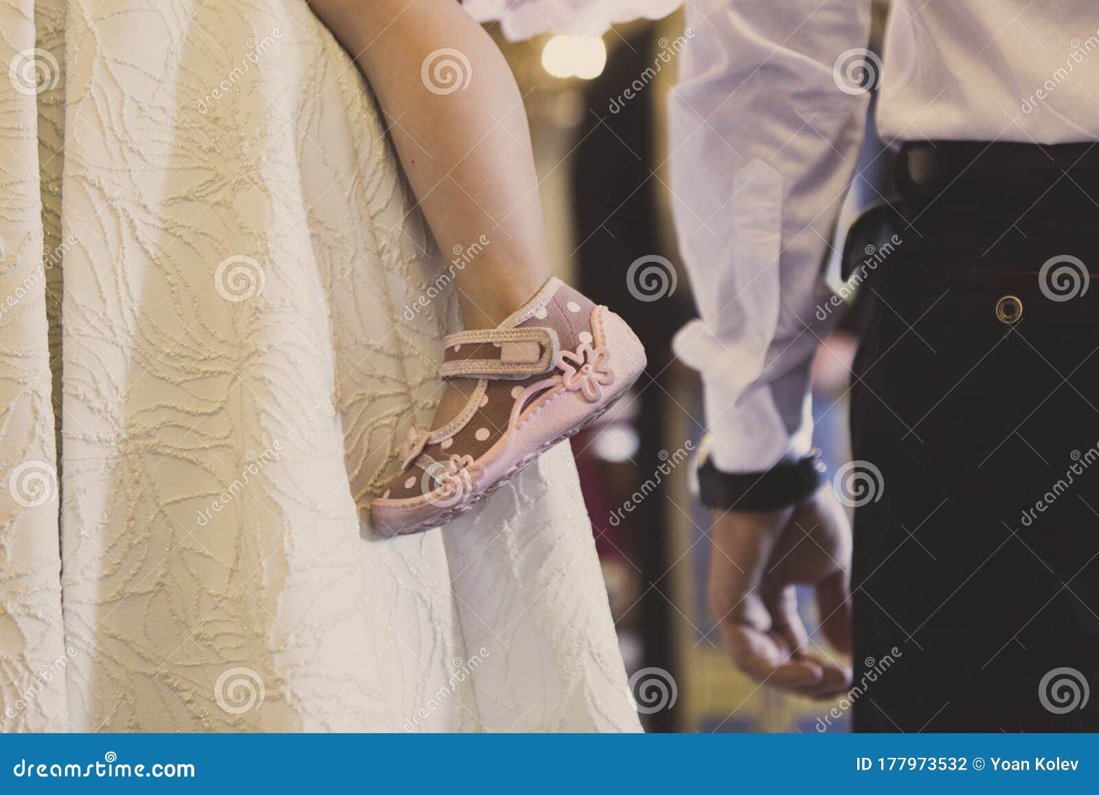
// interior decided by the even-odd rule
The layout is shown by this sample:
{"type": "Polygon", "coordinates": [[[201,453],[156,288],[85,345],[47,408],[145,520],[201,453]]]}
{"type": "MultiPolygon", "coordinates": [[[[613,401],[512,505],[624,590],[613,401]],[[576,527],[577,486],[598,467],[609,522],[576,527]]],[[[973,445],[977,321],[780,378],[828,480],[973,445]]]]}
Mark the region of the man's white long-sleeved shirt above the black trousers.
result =
{"type": "Polygon", "coordinates": [[[884,70],[857,52],[869,23],[869,0],[688,3],[671,189],[701,318],[675,345],[702,374],[724,471],[811,446],[810,366],[839,314],[818,319],[823,263],[861,179],[868,93],[843,79],[853,60],[881,73],[890,143],[1099,139],[1097,0],[898,0],[884,70]]]}

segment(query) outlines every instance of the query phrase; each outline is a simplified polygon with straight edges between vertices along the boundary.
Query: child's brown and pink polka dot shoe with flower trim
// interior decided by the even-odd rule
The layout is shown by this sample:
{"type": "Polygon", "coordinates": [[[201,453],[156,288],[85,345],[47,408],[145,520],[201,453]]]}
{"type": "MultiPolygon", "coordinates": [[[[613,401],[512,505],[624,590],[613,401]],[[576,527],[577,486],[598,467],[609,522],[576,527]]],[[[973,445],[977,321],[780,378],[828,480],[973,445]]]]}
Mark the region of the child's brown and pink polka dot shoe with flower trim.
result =
{"type": "Polygon", "coordinates": [[[469,510],[609,409],[645,368],[622,318],[556,278],[498,328],[451,334],[444,345],[443,377],[477,386],[445,427],[409,429],[401,473],[370,506],[386,535],[469,510]]]}

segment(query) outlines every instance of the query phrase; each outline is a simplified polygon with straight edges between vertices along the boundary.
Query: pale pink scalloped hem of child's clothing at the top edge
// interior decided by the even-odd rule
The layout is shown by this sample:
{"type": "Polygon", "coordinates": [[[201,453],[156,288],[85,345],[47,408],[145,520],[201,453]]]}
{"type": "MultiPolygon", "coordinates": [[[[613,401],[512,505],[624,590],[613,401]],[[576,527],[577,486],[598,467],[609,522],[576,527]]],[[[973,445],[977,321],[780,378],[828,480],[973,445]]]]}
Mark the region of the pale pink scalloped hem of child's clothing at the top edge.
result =
{"type": "Polygon", "coordinates": [[[637,19],[656,20],[684,0],[463,0],[476,19],[499,20],[508,38],[542,33],[602,35],[612,25],[637,19]]]}

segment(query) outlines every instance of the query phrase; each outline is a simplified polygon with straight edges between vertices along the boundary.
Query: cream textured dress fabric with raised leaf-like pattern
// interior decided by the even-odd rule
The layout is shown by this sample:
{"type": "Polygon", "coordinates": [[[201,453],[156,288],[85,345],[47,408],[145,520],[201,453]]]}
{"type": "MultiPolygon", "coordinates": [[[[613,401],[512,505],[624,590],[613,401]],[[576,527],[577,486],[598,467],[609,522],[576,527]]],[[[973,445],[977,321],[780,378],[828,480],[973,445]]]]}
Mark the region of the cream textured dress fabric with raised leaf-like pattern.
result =
{"type": "Polygon", "coordinates": [[[0,730],[636,730],[567,446],[369,527],[454,303],[304,0],[0,30],[0,730]]]}

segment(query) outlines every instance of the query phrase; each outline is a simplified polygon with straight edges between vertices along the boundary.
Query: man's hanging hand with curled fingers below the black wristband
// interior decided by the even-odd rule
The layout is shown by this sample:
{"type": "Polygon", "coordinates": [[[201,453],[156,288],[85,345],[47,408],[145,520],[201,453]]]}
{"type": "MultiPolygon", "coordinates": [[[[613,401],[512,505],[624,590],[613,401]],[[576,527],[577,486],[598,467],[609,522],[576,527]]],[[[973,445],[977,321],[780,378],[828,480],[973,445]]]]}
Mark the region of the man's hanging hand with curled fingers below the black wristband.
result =
{"type": "Polygon", "coordinates": [[[817,589],[824,637],[851,653],[851,528],[831,488],[779,511],[714,511],[710,611],[733,663],[791,693],[828,698],[851,686],[851,670],[806,650],[796,585],[817,589]]]}

